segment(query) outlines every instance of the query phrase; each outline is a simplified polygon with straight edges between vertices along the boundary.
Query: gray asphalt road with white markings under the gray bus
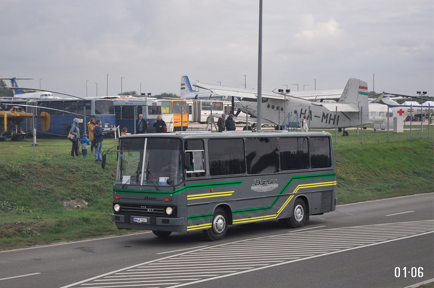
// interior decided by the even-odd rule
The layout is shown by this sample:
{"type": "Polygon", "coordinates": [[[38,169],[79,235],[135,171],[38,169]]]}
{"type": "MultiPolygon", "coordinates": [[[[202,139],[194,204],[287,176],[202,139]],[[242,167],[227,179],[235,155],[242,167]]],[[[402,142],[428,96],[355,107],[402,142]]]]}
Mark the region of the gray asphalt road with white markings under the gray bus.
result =
{"type": "Polygon", "coordinates": [[[434,278],[433,218],[429,193],[341,205],[301,229],[230,226],[220,242],[144,232],[0,252],[0,287],[406,287],[434,278]]]}

